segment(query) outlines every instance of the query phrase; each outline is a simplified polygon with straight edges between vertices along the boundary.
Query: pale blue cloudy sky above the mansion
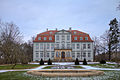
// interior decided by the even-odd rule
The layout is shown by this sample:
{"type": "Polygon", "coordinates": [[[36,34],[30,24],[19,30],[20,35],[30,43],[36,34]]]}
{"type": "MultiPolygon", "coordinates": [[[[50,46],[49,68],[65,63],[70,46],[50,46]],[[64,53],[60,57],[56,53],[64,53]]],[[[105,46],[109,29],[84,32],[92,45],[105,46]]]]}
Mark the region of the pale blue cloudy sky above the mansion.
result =
{"type": "Polygon", "coordinates": [[[14,22],[27,41],[31,36],[56,28],[80,30],[91,37],[109,29],[110,20],[120,20],[120,0],[0,0],[0,18],[14,22]]]}

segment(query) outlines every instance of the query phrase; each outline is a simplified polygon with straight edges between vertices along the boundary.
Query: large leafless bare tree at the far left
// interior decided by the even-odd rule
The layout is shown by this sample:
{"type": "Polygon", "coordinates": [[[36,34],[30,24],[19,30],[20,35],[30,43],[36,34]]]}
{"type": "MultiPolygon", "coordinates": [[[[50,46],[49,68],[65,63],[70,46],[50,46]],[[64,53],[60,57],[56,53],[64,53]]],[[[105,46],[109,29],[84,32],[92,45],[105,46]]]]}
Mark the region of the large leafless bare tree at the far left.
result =
{"type": "MultiPolygon", "coordinates": [[[[19,28],[14,23],[4,23],[0,21],[0,30],[0,52],[3,54],[4,62],[16,65],[19,61],[19,47],[22,41],[19,28]]],[[[12,68],[14,68],[14,66],[12,68]]]]}

